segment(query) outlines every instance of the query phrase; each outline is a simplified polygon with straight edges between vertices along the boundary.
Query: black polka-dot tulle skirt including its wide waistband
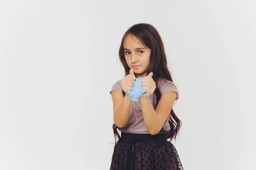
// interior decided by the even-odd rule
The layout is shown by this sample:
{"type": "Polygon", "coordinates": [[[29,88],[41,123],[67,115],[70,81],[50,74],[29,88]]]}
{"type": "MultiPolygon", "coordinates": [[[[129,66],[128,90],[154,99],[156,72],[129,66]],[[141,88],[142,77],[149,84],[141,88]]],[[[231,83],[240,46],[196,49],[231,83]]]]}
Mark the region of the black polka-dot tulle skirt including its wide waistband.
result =
{"type": "Polygon", "coordinates": [[[121,132],[110,170],[183,170],[177,150],[166,134],[121,132]]]}

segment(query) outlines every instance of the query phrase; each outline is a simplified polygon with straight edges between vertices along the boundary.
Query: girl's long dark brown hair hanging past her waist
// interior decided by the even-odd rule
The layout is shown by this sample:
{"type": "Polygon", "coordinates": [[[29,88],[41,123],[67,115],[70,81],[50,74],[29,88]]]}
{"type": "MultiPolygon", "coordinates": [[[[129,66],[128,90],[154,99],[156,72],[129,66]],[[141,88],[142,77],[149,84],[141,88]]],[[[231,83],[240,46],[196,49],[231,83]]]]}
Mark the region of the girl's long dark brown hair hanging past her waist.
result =
{"type": "MultiPolygon", "coordinates": [[[[140,23],[140,24],[135,24],[134,26],[131,26],[131,28],[129,28],[125,32],[119,48],[119,59],[125,68],[125,76],[130,74],[129,71],[131,69],[129,68],[129,66],[127,65],[127,62],[125,61],[125,54],[124,54],[124,47],[123,47],[124,40],[129,34],[137,37],[137,39],[140,40],[143,43],[143,45],[151,49],[150,63],[149,63],[146,75],[148,75],[150,72],[153,72],[152,78],[154,82],[156,82],[156,86],[157,86],[154,93],[156,94],[157,103],[158,103],[160,100],[160,91],[157,85],[159,78],[173,82],[172,76],[167,66],[167,59],[166,59],[163,41],[160,37],[160,34],[156,30],[156,28],[154,28],[150,24],[140,23]]],[[[122,93],[123,93],[123,96],[125,96],[125,92],[122,91],[122,93]]],[[[175,115],[173,109],[171,110],[171,117],[169,119],[169,124],[171,127],[171,130],[169,132],[164,130],[163,127],[160,130],[160,132],[166,133],[167,139],[170,139],[170,140],[172,140],[173,138],[176,139],[176,136],[178,135],[178,132],[180,130],[182,123],[180,119],[178,119],[178,117],[175,115]]],[[[118,127],[115,124],[113,124],[115,144],[116,144],[116,137],[120,139],[120,135],[117,132],[117,128],[118,127]]]]}

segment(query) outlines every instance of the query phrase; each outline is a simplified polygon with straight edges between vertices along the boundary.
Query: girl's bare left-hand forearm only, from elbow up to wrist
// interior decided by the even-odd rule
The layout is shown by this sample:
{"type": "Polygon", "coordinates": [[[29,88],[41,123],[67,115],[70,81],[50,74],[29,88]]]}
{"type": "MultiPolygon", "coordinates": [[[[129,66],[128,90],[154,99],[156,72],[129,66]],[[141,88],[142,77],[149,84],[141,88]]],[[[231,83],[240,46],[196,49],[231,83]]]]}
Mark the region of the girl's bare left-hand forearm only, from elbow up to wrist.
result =
{"type": "Polygon", "coordinates": [[[131,111],[131,99],[129,94],[125,94],[125,97],[122,99],[122,103],[114,111],[113,121],[117,127],[124,127],[130,117],[131,111]]]}

